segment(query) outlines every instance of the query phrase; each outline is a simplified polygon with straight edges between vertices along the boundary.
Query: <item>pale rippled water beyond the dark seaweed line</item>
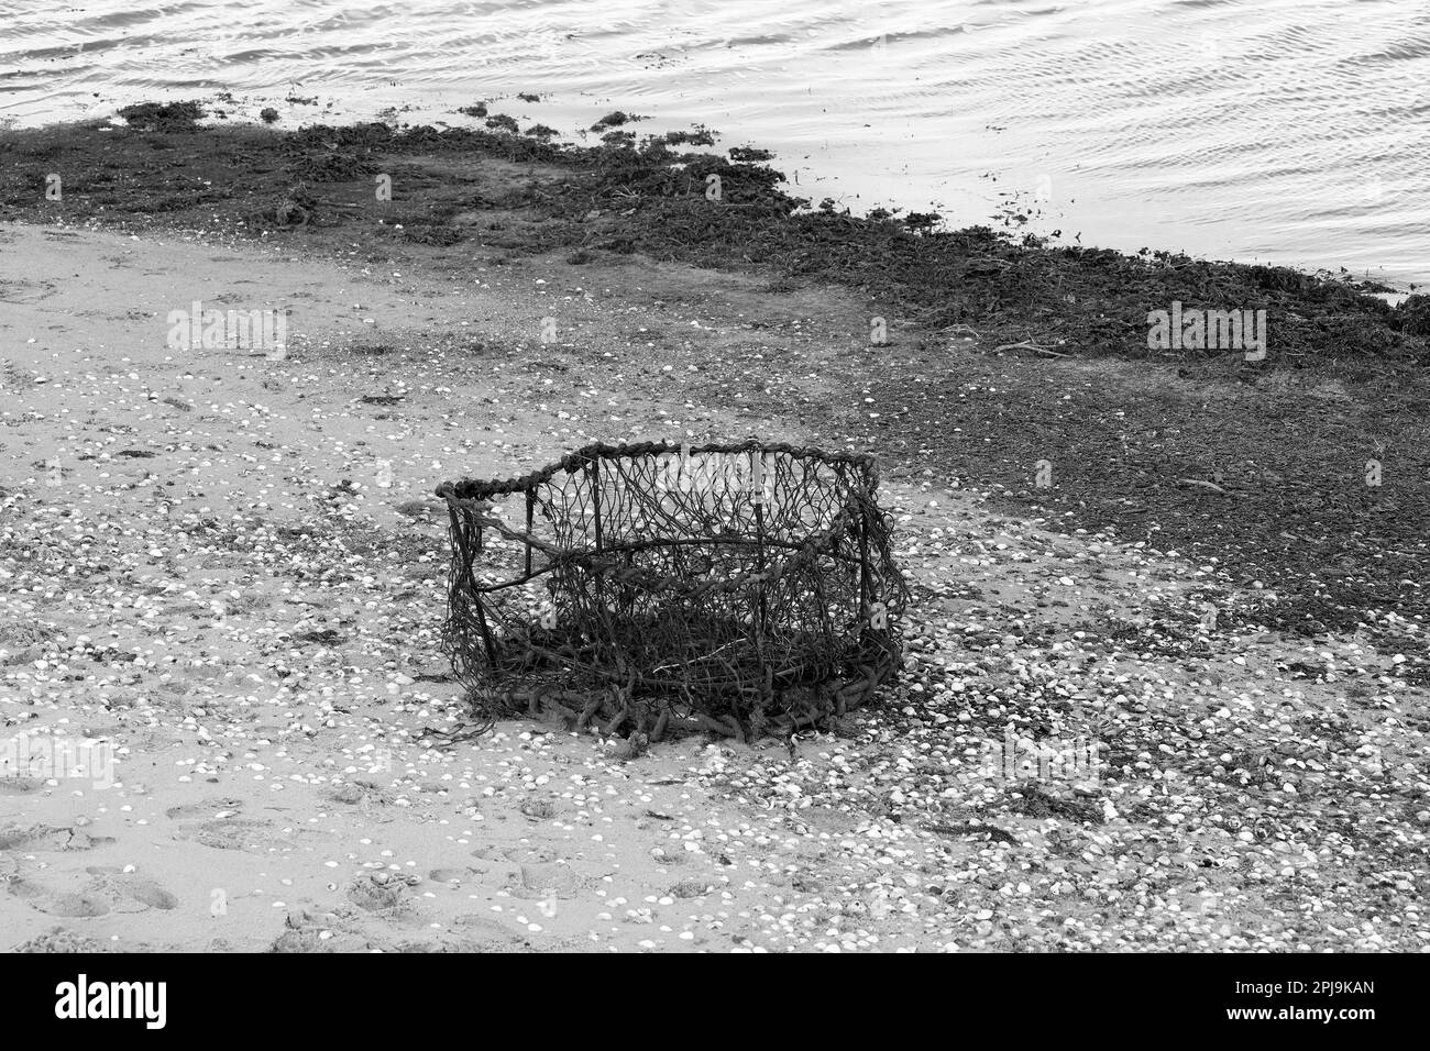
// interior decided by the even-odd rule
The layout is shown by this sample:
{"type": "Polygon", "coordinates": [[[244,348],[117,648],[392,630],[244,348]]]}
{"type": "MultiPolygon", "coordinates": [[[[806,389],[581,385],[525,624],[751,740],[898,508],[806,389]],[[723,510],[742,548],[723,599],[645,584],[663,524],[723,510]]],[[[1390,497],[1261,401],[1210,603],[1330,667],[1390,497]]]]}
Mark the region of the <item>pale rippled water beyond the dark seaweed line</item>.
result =
{"type": "Polygon", "coordinates": [[[857,210],[1430,280],[1421,0],[0,0],[3,122],[220,90],[289,124],[621,107],[857,210]]]}

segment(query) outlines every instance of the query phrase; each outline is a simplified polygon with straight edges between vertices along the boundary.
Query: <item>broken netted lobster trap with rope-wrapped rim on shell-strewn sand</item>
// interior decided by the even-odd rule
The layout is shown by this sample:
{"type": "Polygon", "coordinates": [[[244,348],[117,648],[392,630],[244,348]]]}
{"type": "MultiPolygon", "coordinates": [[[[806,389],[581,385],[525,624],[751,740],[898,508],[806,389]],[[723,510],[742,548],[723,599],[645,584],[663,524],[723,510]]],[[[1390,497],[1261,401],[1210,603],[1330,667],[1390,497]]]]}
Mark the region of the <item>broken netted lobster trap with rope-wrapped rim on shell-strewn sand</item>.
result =
{"type": "Polygon", "coordinates": [[[759,736],[865,702],[899,663],[907,588],[869,456],[591,445],[442,485],[445,646],[495,718],[759,736]]]}

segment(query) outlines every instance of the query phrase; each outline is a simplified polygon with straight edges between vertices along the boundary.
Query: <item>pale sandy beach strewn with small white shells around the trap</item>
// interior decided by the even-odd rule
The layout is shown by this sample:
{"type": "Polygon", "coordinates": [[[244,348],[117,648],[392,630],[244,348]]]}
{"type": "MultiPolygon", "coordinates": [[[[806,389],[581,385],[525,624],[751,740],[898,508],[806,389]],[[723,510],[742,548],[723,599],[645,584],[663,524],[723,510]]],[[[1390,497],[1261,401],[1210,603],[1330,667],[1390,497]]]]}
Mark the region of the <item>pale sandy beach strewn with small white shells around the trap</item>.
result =
{"type": "MultiPolygon", "coordinates": [[[[297,194],[275,189],[293,140],[240,162],[193,134],[11,147],[0,948],[1430,947],[1417,302],[1344,293],[1383,353],[1341,356],[1343,293],[1267,270],[1304,340],[1266,367],[1137,359],[1111,299],[1040,306],[1128,257],[971,237],[955,315],[898,266],[902,299],[821,272],[817,240],[642,242],[674,229],[642,209],[701,197],[684,176],[615,202],[526,147],[319,132],[297,194]],[[46,202],[64,150],[97,160],[46,202]],[[542,212],[583,184],[586,229],[542,212]],[[1021,299],[970,290],[994,279],[1021,299]],[[285,312],[282,355],[176,350],[192,303],[285,312]],[[435,488],[749,436],[879,458],[915,595],[882,702],[633,756],[526,719],[465,734],[435,488]],[[1010,725],[1103,742],[1097,784],[988,776],[1010,725]]],[[[1167,267],[1143,290],[1183,295],[1167,267]]]]}

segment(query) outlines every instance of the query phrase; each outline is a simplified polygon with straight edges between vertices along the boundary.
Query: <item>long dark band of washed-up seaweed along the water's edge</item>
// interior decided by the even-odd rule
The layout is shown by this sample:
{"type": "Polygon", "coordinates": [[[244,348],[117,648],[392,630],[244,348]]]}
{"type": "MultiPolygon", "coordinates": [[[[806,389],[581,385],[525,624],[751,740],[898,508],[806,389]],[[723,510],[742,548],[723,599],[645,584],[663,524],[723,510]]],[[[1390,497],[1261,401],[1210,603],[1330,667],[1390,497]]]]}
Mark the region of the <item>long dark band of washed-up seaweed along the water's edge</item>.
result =
{"type": "Polygon", "coordinates": [[[1423,293],[1390,306],[1367,295],[1386,289],[1346,273],[1124,255],[988,226],[950,230],[934,213],[852,216],[786,193],[761,150],[685,149],[708,144],[704,130],[636,140],[616,129],[582,146],[549,142],[539,126],[518,133],[502,114],[486,127],[296,132],[207,127],[196,123],[203,114],[197,103],[144,103],[126,107],[130,129],[120,133],[100,134],[97,122],[11,133],[0,139],[0,209],[206,226],[227,213],[253,235],[380,217],[388,235],[420,245],[479,240],[513,256],[573,249],[572,259],[586,262],[641,252],[709,267],[759,265],[855,287],[925,329],[971,326],[1060,356],[1220,355],[1148,349],[1148,312],[1177,302],[1266,310],[1271,363],[1331,366],[1354,379],[1430,362],[1423,293]],[[516,189],[495,179],[512,163],[531,172],[516,189]],[[44,196],[51,172],[67,173],[63,207],[44,196]],[[375,194],[378,174],[392,176],[389,200],[375,194]]]}

